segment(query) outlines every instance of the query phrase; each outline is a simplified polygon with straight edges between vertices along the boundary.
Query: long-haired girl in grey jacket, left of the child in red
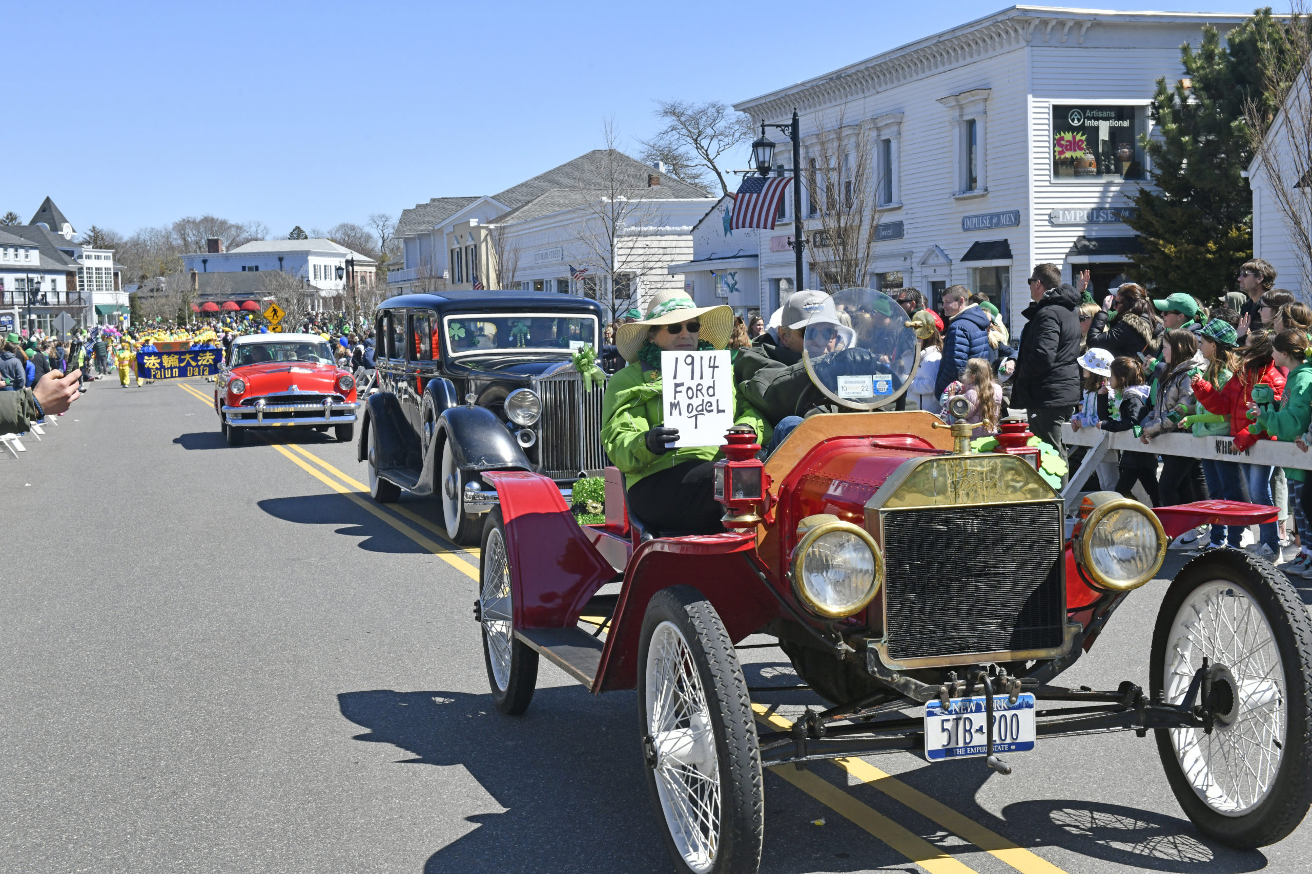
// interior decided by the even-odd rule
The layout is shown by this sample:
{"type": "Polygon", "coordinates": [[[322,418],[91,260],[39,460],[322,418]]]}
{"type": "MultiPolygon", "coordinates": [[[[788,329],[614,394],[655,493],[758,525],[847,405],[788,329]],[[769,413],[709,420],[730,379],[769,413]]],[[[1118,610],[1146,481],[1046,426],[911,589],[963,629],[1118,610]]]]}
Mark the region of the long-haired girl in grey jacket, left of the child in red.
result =
{"type": "MultiPolygon", "coordinates": [[[[1149,411],[1144,417],[1139,439],[1151,442],[1158,434],[1174,431],[1182,418],[1177,408],[1193,400],[1191,381],[1203,372],[1206,362],[1198,351],[1198,339],[1187,328],[1168,330],[1161,345],[1162,364],[1148,392],[1149,411]]],[[[1198,459],[1181,455],[1162,457],[1157,489],[1165,506],[1203,501],[1207,484],[1198,459]]],[[[1185,541],[1182,541],[1185,542],[1185,541]]],[[[1193,537],[1187,542],[1193,542],[1193,537]]]]}

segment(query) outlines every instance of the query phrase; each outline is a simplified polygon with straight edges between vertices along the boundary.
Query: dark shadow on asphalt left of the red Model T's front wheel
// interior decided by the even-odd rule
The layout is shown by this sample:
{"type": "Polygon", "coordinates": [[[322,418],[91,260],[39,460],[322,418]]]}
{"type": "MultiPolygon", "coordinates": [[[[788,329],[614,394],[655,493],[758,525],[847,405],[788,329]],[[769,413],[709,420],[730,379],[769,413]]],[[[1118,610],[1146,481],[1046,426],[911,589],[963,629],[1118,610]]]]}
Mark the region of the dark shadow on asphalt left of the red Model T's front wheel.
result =
{"type": "Polygon", "coordinates": [[[371,689],[337,696],[341,714],[412,757],[463,765],[505,810],[475,814],[467,835],[424,866],[440,871],[669,871],[642,770],[632,693],[538,689],[522,717],[489,694],[371,689]],[[618,837],[618,840],[617,840],[618,837]],[[530,861],[531,860],[531,861],[530,861]],[[522,866],[522,869],[521,869],[522,866]]]}

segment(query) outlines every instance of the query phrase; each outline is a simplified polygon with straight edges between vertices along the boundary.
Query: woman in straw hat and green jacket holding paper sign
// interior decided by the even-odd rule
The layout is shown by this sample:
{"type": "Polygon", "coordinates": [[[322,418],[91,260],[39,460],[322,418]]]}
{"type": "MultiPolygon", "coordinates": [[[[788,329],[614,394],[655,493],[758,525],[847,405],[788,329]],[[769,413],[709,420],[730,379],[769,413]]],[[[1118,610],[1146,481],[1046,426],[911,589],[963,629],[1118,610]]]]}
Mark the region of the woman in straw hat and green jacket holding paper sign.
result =
{"type": "MultiPolygon", "coordinates": [[[[728,307],[698,307],[682,291],[655,295],[642,321],[621,325],[615,345],[628,366],[610,377],[601,413],[601,440],[625,473],[628,511],[661,531],[723,531],[724,508],[711,494],[718,447],[669,448],[678,430],[665,427],[660,354],[724,349],[733,332],[728,307]]],[[[735,422],[770,439],[770,426],[733,390],[735,422]]]]}

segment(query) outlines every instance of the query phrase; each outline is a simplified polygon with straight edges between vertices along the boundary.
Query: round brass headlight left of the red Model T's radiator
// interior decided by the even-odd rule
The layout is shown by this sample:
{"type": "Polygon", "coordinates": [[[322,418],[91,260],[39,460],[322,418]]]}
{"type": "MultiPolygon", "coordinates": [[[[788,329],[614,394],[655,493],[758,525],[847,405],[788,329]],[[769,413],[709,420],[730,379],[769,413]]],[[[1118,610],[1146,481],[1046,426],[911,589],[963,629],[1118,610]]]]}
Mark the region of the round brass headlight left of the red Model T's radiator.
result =
{"type": "Polygon", "coordinates": [[[865,528],[837,516],[808,516],[792,550],[792,591],[824,618],[858,613],[879,594],[884,556],[865,528]]]}

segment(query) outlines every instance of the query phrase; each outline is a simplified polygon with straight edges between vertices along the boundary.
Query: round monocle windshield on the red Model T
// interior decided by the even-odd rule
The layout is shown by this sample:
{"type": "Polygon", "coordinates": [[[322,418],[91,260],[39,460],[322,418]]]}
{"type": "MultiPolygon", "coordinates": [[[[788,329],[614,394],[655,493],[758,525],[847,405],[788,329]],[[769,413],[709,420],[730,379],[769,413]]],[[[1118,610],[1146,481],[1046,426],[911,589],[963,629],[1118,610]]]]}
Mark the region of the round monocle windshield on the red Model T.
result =
{"type": "Polygon", "coordinates": [[[918,362],[916,332],[897,303],[872,288],[834,292],[807,320],[807,373],[829,400],[876,410],[907,390],[918,362]]]}

